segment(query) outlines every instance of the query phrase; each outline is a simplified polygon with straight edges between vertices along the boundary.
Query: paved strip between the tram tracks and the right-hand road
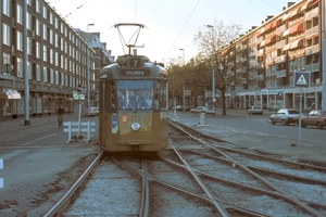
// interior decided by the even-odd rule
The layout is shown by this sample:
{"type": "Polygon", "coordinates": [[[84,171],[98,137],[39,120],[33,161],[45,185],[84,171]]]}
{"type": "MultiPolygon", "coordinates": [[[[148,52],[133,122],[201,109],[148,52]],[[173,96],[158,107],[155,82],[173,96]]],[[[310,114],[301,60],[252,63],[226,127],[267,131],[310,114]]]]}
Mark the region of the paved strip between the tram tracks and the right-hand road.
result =
{"type": "MultiPolygon", "coordinates": [[[[266,122],[269,122],[269,115],[273,113],[268,111],[263,114],[266,122]]],[[[276,137],[274,135],[253,132],[240,128],[229,128],[216,122],[218,118],[236,119],[239,116],[249,116],[246,110],[227,110],[226,114],[222,115],[222,110],[217,110],[215,116],[205,115],[205,125],[202,126],[198,125],[199,115],[178,112],[177,118],[174,118],[174,113],[171,112],[170,117],[205,135],[236,144],[238,148],[253,149],[264,153],[290,157],[298,162],[321,162],[315,163],[315,165],[326,167],[326,143],[324,141],[304,141],[300,146],[291,145],[293,138],[276,137]]]]}

